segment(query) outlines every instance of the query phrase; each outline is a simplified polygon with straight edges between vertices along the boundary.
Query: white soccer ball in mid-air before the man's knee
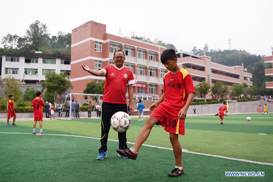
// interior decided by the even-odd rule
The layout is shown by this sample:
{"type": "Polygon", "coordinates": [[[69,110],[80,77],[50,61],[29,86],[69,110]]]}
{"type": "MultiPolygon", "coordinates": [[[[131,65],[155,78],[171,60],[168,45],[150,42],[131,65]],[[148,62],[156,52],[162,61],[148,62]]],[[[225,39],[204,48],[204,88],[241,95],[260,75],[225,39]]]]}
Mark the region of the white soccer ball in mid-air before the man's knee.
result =
{"type": "Polygon", "coordinates": [[[111,126],[115,131],[123,133],[130,128],[131,118],[125,112],[122,111],[116,112],[111,117],[111,126]]]}

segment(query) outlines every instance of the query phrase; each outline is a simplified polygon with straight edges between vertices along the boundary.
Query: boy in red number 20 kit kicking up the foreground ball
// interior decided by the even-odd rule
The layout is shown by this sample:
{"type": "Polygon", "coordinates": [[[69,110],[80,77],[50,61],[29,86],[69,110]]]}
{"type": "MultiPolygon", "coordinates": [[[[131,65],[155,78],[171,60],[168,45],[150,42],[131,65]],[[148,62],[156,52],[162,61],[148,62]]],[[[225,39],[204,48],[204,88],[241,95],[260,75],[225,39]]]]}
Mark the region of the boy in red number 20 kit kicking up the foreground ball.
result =
{"type": "Polygon", "coordinates": [[[190,74],[177,65],[174,49],[164,50],[161,55],[161,62],[169,70],[163,77],[164,93],[150,106],[152,113],[147,118],[133,147],[130,149],[117,149],[116,151],[135,160],[138,150],[147,140],[152,127],[155,124],[165,126],[165,131],[170,133],[170,142],[174,149],[176,163],[174,169],[168,175],[175,177],[184,174],[182,149],[178,141],[178,134],[185,134],[185,118],[190,103],[194,98],[195,89],[190,74]]]}

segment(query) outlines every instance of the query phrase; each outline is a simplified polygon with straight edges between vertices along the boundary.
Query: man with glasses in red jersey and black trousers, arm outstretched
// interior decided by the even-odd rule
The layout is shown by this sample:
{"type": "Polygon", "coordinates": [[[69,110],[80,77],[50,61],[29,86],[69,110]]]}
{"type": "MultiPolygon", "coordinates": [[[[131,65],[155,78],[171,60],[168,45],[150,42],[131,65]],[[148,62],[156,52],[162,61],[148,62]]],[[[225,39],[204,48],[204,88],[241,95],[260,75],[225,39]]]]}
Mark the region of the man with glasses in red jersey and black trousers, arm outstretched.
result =
{"type": "MultiPolygon", "coordinates": [[[[105,66],[103,69],[96,71],[89,69],[82,64],[83,70],[95,76],[105,76],[105,85],[103,91],[103,103],[101,110],[101,147],[99,148],[99,156],[97,160],[103,160],[107,157],[107,139],[111,126],[111,117],[114,113],[123,111],[127,113],[126,103],[126,86],[128,86],[128,94],[130,100],[129,114],[133,113],[133,84],[136,83],[133,73],[130,69],[123,66],[125,55],[121,50],[114,52],[113,60],[115,65],[105,66]]],[[[118,133],[119,148],[127,149],[126,132],[118,133]]],[[[128,159],[128,157],[118,154],[119,157],[128,159]]]]}

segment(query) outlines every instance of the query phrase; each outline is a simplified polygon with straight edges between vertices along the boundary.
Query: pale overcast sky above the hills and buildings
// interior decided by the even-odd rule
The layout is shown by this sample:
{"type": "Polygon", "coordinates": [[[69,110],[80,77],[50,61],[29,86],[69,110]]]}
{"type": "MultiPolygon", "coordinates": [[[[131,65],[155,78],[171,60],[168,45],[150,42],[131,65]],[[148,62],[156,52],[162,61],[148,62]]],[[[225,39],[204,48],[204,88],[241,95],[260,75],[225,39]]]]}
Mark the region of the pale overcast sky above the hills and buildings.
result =
{"type": "MultiPolygon", "coordinates": [[[[1,39],[25,35],[35,20],[49,33],[71,32],[90,20],[106,24],[106,32],[146,36],[172,43],[177,50],[243,49],[271,55],[273,4],[271,1],[2,1],[1,39]]],[[[2,47],[2,44],[1,44],[2,47]]]]}

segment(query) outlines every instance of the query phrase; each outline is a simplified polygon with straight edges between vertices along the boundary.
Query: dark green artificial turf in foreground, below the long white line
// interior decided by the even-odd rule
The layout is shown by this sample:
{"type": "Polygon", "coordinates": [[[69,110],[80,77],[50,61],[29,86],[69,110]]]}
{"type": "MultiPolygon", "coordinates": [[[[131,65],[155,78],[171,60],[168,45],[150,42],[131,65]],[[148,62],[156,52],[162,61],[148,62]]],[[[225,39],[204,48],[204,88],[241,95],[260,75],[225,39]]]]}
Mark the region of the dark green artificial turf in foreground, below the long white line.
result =
{"type": "MultiPolygon", "coordinates": [[[[58,121],[56,121],[58,122],[58,121]]],[[[75,122],[78,123],[78,122],[75,122]]],[[[1,125],[1,130],[3,130],[1,125]]],[[[27,132],[26,126],[9,127],[27,132]]],[[[1,131],[3,132],[3,131],[1,131]]],[[[66,134],[47,130],[48,133],[66,134]]],[[[117,157],[108,141],[107,158],[96,160],[99,140],[72,136],[0,134],[1,181],[272,181],[272,166],[183,153],[185,173],[171,178],[171,150],[141,147],[136,160],[117,157]],[[226,177],[225,171],[264,171],[264,177],[226,177]]],[[[128,145],[131,147],[132,145],[128,145]]]]}

